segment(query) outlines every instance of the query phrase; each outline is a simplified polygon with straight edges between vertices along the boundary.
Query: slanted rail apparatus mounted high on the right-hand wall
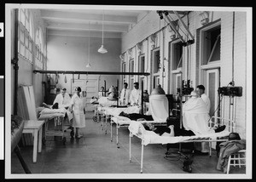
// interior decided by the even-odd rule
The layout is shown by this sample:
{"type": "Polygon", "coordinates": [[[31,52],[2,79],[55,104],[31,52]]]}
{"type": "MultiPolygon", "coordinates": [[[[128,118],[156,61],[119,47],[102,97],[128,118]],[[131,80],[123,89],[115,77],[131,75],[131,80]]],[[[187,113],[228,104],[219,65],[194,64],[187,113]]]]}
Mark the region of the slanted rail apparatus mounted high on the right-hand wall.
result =
{"type": "Polygon", "coordinates": [[[175,33],[177,34],[177,37],[181,40],[184,47],[195,43],[195,37],[189,31],[188,26],[186,26],[186,24],[183,22],[182,18],[179,16],[177,11],[156,11],[156,12],[159,14],[160,20],[164,19],[164,17],[166,18],[164,20],[167,20],[167,23],[169,24],[169,26],[171,26],[172,30],[175,31],[175,33]],[[181,36],[181,34],[178,31],[178,29],[180,29],[181,31],[182,31],[182,29],[177,27],[175,20],[172,19],[172,16],[170,14],[175,14],[177,16],[177,20],[179,20],[181,22],[184,29],[188,32],[189,39],[187,40],[187,42],[183,39],[183,37],[181,36]]]}

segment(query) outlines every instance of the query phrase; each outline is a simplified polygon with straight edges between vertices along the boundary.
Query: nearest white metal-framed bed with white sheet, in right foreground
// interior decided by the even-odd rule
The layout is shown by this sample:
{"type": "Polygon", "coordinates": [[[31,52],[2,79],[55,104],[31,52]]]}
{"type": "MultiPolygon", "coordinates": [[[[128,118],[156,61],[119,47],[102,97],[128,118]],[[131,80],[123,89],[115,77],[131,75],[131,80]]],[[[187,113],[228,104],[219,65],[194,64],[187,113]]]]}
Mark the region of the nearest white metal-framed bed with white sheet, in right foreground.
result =
{"type": "Polygon", "coordinates": [[[194,135],[194,136],[160,136],[155,134],[153,131],[148,131],[143,127],[143,124],[140,122],[131,121],[128,129],[130,130],[130,139],[129,139],[129,159],[131,162],[131,137],[136,136],[141,139],[142,151],[141,151],[141,173],[143,173],[143,152],[144,145],[149,144],[175,144],[175,143],[189,143],[189,142],[209,142],[210,144],[210,152],[209,155],[212,156],[212,142],[221,142],[228,140],[228,136],[230,134],[230,128],[234,131],[235,122],[230,119],[225,119],[221,117],[212,117],[209,121],[209,126],[216,125],[216,121],[220,123],[220,125],[229,124],[229,131],[224,130],[219,133],[214,134],[205,134],[205,135],[194,135]],[[213,121],[212,121],[213,120],[213,121]]]}

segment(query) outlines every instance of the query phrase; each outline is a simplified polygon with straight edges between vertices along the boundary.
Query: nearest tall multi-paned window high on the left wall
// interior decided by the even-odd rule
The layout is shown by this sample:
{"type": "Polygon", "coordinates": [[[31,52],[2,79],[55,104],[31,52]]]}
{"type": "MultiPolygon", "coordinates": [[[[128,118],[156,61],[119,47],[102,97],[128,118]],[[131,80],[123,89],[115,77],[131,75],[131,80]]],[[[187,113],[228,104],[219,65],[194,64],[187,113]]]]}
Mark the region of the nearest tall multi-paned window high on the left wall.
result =
{"type": "Polygon", "coordinates": [[[20,55],[32,63],[33,26],[31,17],[28,9],[20,9],[18,51],[20,55]]]}

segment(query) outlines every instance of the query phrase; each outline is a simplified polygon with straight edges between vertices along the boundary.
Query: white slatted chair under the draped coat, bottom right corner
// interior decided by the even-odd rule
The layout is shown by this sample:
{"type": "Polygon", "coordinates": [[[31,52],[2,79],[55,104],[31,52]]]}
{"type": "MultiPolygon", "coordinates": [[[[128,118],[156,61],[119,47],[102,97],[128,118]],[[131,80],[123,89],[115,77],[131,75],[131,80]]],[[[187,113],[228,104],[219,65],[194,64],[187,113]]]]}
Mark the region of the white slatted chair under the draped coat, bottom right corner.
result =
{"type": "Polygon", "coordinates": [[[246,150],[237,151],[234,154],[229,156],[228,166],[227,166],[227,173],[230,173],[230,166],[246,166],[246,150]],[[231,163],[233,161],[233,163],[231,163]]]}

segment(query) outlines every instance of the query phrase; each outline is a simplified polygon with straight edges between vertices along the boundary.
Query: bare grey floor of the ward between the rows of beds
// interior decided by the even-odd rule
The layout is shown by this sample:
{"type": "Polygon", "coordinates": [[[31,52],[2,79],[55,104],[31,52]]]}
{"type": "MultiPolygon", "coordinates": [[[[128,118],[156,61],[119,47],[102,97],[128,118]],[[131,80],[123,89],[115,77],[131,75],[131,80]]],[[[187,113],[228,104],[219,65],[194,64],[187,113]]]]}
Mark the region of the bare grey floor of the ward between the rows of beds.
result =
{"type": "MultiPolygon", "coordinates": [[[[61,141],[46,141],[38,162],[32,162],[32,146],[20,147],[21,155],[32,173],[140,173],[141,141],[136,137],[131,139],[131,162],[129,162],[129,131],[119,128],[119,148],[116,145],[113,126],[113,142],[110,141],[110,126],[108,132],[102,130],[100,122],[93,122],[92,112],[86,113],[86,127],[81,131],[84,138],[71,139],[67,130],[66,145],[61,141]]],[[[60,140],[60,139],[59,139],[60,140]]],[[[143,174],[162,173],[190,174],[183,172],[183,157],[177,155],[177,148],[169,150],[172,157],[165,158],[166,145],[146,145],[144,147],[143,174]]],[[[212,156],[194,155],[192,173],[224,174],[216,169],[218,157],[213,151],[212,156]]],[[[20,162],[13,153],[11,155],[11,173],[24,173],[20,162]]],[[[245,168],[231,168],[230,173],[245,173],[245,168]]],[[[197,175],[199,176],[199,175],[197,175]]],[[[179,175],[180,177],[180,175],[179,175]]]]}

